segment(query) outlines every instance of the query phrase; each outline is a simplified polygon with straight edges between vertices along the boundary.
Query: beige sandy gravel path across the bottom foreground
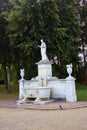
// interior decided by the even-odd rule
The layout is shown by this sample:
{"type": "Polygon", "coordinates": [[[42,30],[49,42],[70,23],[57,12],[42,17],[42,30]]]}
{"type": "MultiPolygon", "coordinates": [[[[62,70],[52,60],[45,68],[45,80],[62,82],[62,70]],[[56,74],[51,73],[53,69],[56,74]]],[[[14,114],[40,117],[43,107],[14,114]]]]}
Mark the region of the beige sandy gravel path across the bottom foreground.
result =
{"type": "Polygon", "coordinates": [[[87,130],[87,107],[53,111],[0,108],[0,130],[87,130]]]}

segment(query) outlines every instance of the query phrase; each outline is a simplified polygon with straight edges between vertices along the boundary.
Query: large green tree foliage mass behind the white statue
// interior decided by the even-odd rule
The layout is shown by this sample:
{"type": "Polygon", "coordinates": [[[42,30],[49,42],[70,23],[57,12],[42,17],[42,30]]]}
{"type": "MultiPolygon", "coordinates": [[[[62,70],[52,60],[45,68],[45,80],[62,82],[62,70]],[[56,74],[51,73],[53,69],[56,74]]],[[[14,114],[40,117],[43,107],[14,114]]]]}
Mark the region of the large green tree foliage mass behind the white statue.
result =
{"type": "MultiPolygon", "coordinates": [[[[7,30],[11,46],[16,48],[18,54],[16,57],[19,61],[15,63],[28,70],[26,77],[28,73],[32,76],[36,75],[36,71],[31,69],[31,66],[35,68],[35,62],[40,60],[38,48],[40,39],[44,39],[47,43],[49,59],[55,54],[58,56],[60,64],[56,68],[59,70],[60,67],[64,70],[67,63],[77,60],[77,46],[74,41],[81,34],[77,19],[77,2],[76,0],[39,2],[15,0],[11,3],[12,8],[5,15],[9,23],[7,30]]],[[[60,73],[63,74],[62,71],[60,73]]]]}

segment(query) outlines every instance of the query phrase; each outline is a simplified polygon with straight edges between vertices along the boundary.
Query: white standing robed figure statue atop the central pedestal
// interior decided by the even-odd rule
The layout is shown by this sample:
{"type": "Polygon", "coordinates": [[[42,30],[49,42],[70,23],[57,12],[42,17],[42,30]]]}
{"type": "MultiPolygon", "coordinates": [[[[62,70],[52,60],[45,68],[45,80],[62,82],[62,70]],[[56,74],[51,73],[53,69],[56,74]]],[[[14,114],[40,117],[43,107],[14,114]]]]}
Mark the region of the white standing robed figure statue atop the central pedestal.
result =
{"type": "Polygon", "coordinates": [[[41,39],[41,46],[39,46],[41,48],[41,57],[42,60],[47,60],[47,54],[46,54],[46,44],[45,42],[41,39]]]}

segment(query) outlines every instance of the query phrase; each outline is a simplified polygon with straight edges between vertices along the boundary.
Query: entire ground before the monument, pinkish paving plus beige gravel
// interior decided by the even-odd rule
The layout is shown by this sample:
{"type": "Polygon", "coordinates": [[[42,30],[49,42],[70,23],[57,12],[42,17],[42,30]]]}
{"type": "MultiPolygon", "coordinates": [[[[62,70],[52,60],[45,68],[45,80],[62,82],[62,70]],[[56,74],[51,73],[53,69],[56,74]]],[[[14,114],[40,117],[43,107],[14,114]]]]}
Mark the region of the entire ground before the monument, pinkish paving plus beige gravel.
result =
{"type": "Polygon", "coordinates": [[[0,130],[87,130],[87,102],[21,104],[0,100],[0,130]]]}

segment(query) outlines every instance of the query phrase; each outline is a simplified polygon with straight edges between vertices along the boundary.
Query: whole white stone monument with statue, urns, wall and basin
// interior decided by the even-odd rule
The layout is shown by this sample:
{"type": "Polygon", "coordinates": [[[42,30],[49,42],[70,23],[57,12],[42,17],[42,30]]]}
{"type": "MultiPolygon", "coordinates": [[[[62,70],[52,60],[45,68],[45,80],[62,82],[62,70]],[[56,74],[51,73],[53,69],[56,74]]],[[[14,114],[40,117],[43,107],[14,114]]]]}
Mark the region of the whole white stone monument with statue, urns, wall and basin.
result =
{"type": "Polygon", "coordinates": [[[20,70],[19,100],[21,103],[45,104],[58,98],[67,102],[77,101],[75,90],[75,78],[72,74],[72,64],[66,65],[68,77],[58,79],[52,76],[52,62],[46,53],[46,43],[41,40],[41,60],[36,63],[38,75],[31,80],[24,79],[24,69],[20,70]]]}

